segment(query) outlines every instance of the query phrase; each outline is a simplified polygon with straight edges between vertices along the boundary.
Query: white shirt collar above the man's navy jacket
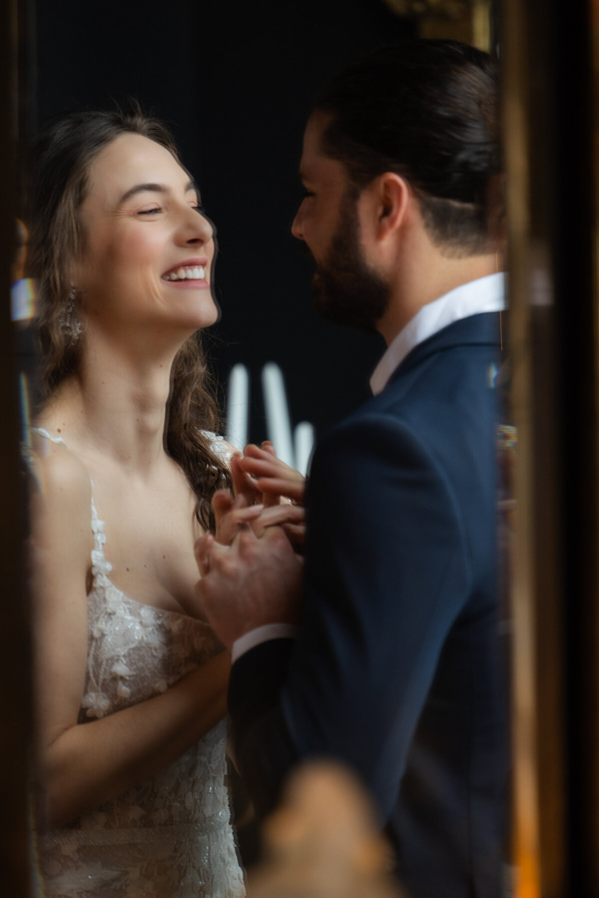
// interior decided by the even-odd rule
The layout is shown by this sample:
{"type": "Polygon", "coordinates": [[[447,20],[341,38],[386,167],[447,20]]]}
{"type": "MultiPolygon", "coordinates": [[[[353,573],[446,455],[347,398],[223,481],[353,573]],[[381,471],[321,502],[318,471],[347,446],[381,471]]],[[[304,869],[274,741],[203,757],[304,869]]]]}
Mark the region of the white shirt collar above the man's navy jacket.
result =
{"type": "Polygon", "coordinates": [[[468,284],[456,286],[454,290],[418,309],[389,344],[383,358],[374,368],[370,378],[370,389],[374,396],[383,391],[395,369],[418,343],[468,315],[503,312],[506,308],[505,282],[503,271],[479,277],[468,284]]]}

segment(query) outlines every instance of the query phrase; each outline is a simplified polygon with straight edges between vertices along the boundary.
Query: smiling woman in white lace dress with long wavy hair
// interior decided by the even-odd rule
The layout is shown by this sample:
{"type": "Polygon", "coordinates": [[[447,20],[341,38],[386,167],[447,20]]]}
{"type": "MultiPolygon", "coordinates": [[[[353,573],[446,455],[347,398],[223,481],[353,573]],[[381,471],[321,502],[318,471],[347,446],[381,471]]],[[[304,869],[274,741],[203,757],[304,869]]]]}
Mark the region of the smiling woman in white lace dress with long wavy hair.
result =
{"type": "MultiPolygon", "coordinates": [[[[194,541],[231,485],[197,334],[217,318],[214,229],[172,137],[138,111],[57,122],[33,197],[44,894],[233,898],[229,658],[184,612],[194,541]]],[[[239,521],[260,514],[244,505],[239,521]]]]}

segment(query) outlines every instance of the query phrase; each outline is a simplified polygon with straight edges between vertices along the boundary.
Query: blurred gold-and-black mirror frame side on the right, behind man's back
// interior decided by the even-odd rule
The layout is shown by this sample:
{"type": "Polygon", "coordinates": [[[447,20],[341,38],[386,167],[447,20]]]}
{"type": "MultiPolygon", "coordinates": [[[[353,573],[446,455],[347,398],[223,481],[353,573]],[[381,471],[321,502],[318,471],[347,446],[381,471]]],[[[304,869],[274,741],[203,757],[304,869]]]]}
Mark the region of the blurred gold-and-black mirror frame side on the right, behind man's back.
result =
{"type": "Polygon", "coordinates": [[[591,0],[568,8],[504,0],[503,9],[518,433],[511,590],[518,898],[599,894],[597,12],[591,0]]]}

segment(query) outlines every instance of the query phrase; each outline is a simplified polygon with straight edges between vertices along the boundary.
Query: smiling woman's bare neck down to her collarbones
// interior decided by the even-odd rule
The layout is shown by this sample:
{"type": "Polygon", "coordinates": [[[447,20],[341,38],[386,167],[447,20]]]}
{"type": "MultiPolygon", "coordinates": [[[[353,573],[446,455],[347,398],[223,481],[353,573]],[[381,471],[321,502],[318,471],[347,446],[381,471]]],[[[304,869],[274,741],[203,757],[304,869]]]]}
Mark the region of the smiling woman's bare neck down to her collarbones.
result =
{"type": "Polygon", "coordinates": [[[58,389],[42,418],[66,445],[147,476],[164,459],[163,431],[177,347],[138,351],[87,333],[78,373],[58,389]]]}

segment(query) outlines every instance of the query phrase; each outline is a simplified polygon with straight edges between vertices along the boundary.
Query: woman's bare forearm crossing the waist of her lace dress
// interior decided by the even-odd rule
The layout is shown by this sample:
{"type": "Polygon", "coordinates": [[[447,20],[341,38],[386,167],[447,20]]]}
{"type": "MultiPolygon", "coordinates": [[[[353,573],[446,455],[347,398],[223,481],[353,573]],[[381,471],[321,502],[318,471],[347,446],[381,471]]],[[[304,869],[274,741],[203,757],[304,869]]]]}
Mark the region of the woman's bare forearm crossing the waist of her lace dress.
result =
{"type": "Polygon", "coordinates": [[[166,692],[42,746],[46,825],[68,823],[153,776],[206,735],[225,717],[229,669],[223,652],[166,692]]]}

